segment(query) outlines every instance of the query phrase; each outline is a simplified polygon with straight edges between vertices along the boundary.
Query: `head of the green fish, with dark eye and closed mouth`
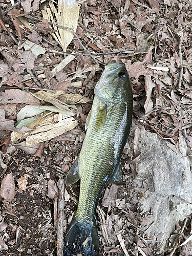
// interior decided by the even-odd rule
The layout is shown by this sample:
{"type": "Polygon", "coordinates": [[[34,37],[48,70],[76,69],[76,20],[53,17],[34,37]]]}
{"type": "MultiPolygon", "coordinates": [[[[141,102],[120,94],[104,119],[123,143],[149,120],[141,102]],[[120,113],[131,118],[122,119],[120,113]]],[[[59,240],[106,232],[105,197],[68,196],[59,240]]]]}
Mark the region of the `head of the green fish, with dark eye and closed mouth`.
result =
{"type": "Polygon", "coordinates": [[[132,94],[132,89],[124,63],[110,61],[96,84],[95,95],[106,102],[115,103],[128,93],[132,94]]]}

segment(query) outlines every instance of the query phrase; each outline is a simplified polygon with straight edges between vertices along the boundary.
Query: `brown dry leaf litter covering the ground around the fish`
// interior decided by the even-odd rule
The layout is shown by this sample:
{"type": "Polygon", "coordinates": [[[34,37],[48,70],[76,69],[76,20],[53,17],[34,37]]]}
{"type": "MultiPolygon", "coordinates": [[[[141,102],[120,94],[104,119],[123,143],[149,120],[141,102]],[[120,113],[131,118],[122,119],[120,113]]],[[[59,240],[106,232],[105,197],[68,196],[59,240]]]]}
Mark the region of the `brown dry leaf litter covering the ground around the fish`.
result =
{"type": "MultiPolygon", "coordinates": [[[[2,13],[11,7],[11,3],[2,0],[2,13]]],[[[0,207],[2,228],[8,224],[21,227],[17,234],[16,230],[7,231],[8,226],[2,230],[1,250],[7,250],[10,255],[39,252],[51,255],[56,239],[52,219],[56,219],[57,210],[54,196],[49,197],[50,182],[56,185],[59,177],[65,177],[78,156],[95,84],[104,65],[114,57],[123,61],[129,72],[138,129],[135,135],[131,133],[130,145],[126,143],[122,155],[125,186],[109,185],[101,194],[102,203],[97,210],[101,255],[150,255],[149,248],[152,247],[156,253],[161,234],[159,240],[153,241],[143,232],[147,223],[153,223],[154,217],[150,212],[143,214],[134,204],[134,177],[142,151],[138,148],[139,129],[144,126],[157,133],[174,152],[178,152],[179,138],[184,138],[190,157],[191,5],[189,2],[162,3],[156,0],[112,3],[121,14],[105,0],[86,1],[79,5],[74,2],[75,11],[67,6],[67,9],[62,8],[62,4],[69,5],[68,1],[40,4],[38,0],[29,0],[2,15],[1,194],[9,198],[5,196],[4,185],[8,175],[12,173],[17,182],[15,196],[0,207]],[[60,16],[63,10],[69,15],[60,16]],[[68,23],[71,13],[74,22],[68,23]],[[56,24],[73,28],[80,41],[71,30],[59,28],[56,24]],[[93,54],[135,50],[94,55],[99,64],[90,56],[66,56],[62,52],[87,53],[82,46],[93,54]],[[26,243],[27,240],[30,243],[26,243]]],[[[145,179],[143,186],[147,182],[145,179]]],[[[10,189],[13,181],[8,179],[8,183],[6,186],[10,189]]],[[[76,210],[78,188],[79,183],[65,191],[64,231],[76,210]]],[[[188,223],[187,228],[188,231],[180,237],[180,244],[190,236],[188,223]]],[[[190,255],[190,252],[189,241],[182,245],[181,253],[176,250],[176,255],[190,255]]]]}

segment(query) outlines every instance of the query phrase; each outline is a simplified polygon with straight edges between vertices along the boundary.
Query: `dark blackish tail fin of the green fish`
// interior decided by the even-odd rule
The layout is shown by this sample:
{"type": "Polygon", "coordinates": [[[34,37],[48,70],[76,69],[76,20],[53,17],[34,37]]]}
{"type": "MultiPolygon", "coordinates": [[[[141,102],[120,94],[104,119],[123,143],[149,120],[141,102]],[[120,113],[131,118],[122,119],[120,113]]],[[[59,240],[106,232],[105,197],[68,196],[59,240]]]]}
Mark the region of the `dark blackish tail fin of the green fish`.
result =
{"type": "Polygon", "coordinates": [[[89,256],[99,256],[97,221],[95,217],[89,223],[80,221],[76,216],[73,217],[67,232],[63,256],[72,256],[82,252],[89,256]]]}

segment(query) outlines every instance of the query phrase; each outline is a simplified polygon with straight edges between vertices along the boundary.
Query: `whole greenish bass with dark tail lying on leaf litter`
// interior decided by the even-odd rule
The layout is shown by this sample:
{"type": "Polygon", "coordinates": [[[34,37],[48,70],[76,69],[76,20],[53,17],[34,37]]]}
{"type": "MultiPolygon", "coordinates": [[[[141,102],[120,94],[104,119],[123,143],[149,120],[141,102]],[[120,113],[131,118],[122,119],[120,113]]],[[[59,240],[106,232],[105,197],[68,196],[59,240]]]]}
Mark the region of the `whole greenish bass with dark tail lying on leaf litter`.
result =
{"type": "Polygon", "coordinates": [[[76,214],[66,234],[63,256],[84,253],[99,256],[96,208],[103,186],[123,184],[121,154],[129,136],[133,94],[122,62],[112,60],[94,89],[86,120],[86,136],[78,158],[66,177],[66,185],[80,179],[76,214]]]}

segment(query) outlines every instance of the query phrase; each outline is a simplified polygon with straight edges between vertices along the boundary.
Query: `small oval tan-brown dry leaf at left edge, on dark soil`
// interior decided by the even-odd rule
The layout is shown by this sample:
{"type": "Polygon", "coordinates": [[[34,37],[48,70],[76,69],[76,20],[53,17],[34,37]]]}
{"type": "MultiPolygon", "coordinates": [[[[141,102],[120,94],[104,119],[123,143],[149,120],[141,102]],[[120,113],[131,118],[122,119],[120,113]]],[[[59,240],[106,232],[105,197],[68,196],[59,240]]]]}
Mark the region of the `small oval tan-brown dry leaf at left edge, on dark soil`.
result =
{"type": "Polygon", "coordinates": [[[11,202],[16,195],[15,182],[12,173],[5,176],[2,180],[0,195],[7,201],[11,202]]]}

